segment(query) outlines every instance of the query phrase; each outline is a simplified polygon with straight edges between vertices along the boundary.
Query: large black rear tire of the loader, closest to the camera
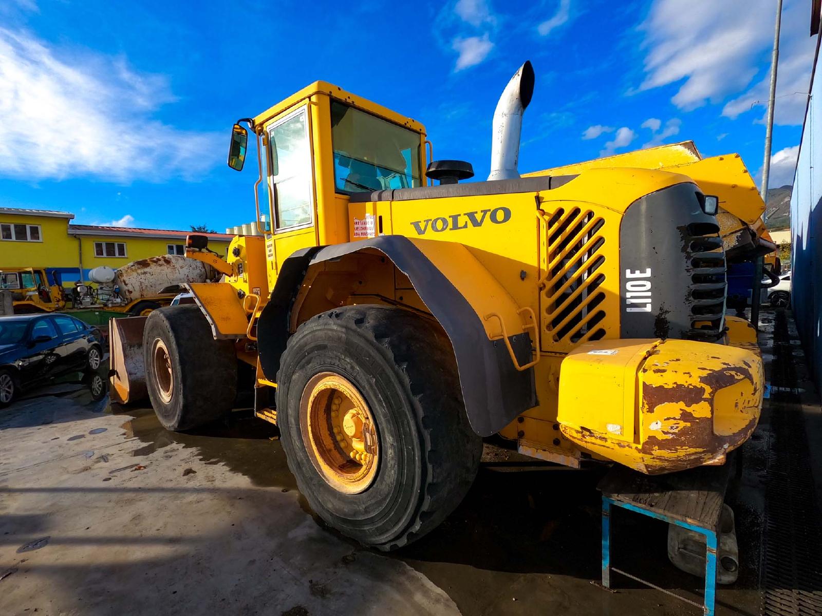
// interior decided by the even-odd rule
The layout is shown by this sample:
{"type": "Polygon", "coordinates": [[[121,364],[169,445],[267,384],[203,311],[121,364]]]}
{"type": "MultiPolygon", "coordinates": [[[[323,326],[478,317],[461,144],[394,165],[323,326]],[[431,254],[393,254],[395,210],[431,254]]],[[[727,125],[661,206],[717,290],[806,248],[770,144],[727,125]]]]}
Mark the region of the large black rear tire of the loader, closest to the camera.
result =
{"type": "MultiPolygon", "coordinates": [[[[436,322],[384,306],[316,315],[289,338],[277,383],[289,468],[312,509],[344,535],[399,548],[436,527],[468,492],[483,442],[469,426],[454,352],[436,322]],[[353,494],[317,470],[314,441],[307,442],[309,389],[328,374],[357,389],[354,398],[376,425],[376,473],[353,494]]],[[[339,398],[332,402],[339,408],[339,398]]]]}

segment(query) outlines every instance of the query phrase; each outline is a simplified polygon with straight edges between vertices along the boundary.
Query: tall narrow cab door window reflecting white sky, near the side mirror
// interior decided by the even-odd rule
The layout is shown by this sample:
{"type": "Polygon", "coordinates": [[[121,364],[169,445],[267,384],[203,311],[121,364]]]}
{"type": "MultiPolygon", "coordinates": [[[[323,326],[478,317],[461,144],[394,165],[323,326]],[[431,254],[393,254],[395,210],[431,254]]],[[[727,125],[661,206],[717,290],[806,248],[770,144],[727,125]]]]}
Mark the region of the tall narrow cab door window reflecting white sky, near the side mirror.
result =
{"type": "Polygon", "coordinates": [[[268,129],[270,190],[275,195],[277,231],[312,223],[312,166],[306,108],[268,129]]]}

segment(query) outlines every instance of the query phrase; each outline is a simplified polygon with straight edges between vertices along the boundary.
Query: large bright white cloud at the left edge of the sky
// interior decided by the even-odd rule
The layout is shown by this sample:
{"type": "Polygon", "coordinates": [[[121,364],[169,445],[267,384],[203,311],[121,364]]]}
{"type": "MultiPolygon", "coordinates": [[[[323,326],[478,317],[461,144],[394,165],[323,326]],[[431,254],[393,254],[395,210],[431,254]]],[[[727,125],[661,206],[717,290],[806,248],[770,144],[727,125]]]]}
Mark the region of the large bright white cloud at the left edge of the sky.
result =
{"type": "Polygon", "coordinates": [[[222,139],[152,117],[174,100],[165,77],[132,71],[123,58],[68,57],[0,28],[0,175],[196,178],[219,162],[222,139]]]}

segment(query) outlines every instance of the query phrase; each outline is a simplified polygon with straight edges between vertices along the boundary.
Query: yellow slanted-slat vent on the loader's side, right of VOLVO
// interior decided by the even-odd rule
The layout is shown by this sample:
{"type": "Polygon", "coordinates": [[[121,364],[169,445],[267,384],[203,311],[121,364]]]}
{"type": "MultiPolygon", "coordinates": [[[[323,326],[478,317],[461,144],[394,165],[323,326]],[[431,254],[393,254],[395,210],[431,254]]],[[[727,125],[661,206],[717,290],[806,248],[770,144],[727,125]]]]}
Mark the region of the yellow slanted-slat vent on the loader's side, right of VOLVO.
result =
{"type": "Polygon", "coordinates": [[[587,342],[603,338],[605,282],[601,249],[605,220],[589,209],[557,209],[546,221],[543,328],[552,342],[587,342]]]}

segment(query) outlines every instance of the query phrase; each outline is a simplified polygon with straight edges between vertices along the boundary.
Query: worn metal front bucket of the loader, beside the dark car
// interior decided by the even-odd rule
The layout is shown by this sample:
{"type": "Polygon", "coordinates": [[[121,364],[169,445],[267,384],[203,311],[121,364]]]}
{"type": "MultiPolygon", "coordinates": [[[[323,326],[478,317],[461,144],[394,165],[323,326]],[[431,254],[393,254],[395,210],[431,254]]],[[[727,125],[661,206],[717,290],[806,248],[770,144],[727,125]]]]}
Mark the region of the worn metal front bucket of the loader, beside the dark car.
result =
{"type": "Polygon", "coordinates": [[[135,316],[109,321],[109,381],[114,402],[130,404],[148,396],[143,360],[143,330],[147,318],[135,316]]]}

